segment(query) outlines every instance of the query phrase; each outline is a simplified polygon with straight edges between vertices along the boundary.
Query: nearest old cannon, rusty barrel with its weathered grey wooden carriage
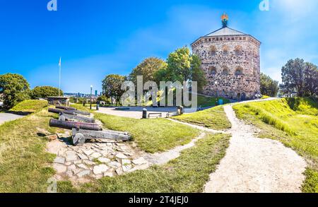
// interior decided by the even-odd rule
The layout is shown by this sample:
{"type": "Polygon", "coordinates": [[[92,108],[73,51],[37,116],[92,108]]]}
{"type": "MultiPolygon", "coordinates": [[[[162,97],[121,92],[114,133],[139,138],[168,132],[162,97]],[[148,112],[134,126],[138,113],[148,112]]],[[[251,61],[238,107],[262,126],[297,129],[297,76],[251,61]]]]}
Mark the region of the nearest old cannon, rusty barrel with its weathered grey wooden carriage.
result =
{"type": "Polygon", "coordinates": [[[115,141],[128,141],[131,136],[122,131],[102,130],[98,124],[83,122],[63,122],[51,119],[49,126],[72,130],[74,146],[82,146],[88,139],[111,139],[115,141]]]}

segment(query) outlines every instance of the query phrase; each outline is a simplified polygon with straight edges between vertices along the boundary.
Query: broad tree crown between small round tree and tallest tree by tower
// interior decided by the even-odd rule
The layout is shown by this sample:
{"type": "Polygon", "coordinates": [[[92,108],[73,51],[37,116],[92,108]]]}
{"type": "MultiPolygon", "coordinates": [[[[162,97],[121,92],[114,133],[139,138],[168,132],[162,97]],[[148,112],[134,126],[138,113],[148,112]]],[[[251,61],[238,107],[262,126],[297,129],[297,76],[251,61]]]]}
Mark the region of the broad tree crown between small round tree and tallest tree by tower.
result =
{"type": "Polygon", "coordinates": [[[141,62],[134,68],[130,75],[129,80],[137,83],[137,76],[143,76],[143,83],[147,81],[155,81],[155,73],[160,69],[167,66],[165,61],[156,57],[149,57],[141,62]]]}

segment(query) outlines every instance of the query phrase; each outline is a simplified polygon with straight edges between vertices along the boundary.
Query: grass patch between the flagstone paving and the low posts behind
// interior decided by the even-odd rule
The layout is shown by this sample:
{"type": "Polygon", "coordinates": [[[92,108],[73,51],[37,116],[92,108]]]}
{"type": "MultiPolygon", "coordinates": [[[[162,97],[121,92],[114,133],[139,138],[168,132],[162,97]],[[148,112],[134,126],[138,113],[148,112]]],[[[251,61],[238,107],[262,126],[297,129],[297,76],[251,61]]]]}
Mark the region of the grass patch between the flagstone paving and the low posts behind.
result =
{"type": "Polygon", "coordinates": [[[199,136],[199,130],[167,119],[131,119],[108,114],[95,114],[106,128],[128,131],[139,148],[148,153],[165,151],[189,143],[199,136]]]}

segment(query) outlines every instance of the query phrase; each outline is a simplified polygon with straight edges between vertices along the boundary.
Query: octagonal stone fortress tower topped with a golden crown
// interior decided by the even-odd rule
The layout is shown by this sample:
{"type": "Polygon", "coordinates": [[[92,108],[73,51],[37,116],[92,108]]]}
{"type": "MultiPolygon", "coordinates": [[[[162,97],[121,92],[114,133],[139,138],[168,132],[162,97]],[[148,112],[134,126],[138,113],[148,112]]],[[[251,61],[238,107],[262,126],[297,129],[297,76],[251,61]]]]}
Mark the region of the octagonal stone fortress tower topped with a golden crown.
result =
{"type": "Polygon", "coordinates": [[[201,59],[207,85],[204,95],[250,100],[260,94],[261,42],[251,35],[228,28],[223,14],[223,28],[200,37],[192,51],[201,59]]]}

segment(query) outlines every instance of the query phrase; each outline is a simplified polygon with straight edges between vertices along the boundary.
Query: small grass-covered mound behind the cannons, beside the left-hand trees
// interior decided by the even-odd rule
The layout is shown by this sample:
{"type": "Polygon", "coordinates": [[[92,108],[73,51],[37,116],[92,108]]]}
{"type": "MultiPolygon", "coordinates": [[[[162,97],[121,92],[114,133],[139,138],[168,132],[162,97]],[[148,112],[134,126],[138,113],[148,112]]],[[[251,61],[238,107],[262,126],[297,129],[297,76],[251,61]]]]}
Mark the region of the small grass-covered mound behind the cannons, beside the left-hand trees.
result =
{"type": "Polygon", "coordinates": [[[47,107],[47,100],[25,100],[18,103],[9,112],[23,112],[23,113],[34,113],[39,112],[44,107],[47,107]]]}

